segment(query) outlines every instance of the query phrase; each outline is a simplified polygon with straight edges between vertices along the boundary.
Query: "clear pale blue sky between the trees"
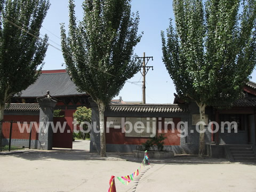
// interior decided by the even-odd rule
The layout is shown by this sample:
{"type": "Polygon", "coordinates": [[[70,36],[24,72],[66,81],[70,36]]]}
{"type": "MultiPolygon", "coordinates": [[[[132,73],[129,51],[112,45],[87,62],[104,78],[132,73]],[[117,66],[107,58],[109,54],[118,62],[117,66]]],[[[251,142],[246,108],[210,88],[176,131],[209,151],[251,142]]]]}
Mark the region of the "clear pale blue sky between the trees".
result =
{"type": "MultiPolygon", "coordinates": [[[[82,2],[83,0],[75,0],[78,20],[83,17],[82,2]]],[[[68,0],[50,0],[50,3],[51,6],[43,22],[41,34],[47,34],[49,43],[60,49],[60,23],[65,23],[65,26],[68,26],[68,0]]],[[[154,70],[149,70],[146,76],[146,103],[172,103],[175,88],[162,61],[160,36],[161,30],[166,30],[169,26],[169,18],[174,19],[172,1],[133,0],[132,11],[139,11],[139,33],[144,32],[141,42],[134,49],[134,53],[142,57],[143,52],[146,52],[146,56],[154,57],[154,61],[148,62],[148,66],[154,66],[154,70]]],[[[52,46],[49,46],[44,62],[43,70],[65,68],[62,53],[52,46]]],[[[252,74],[252,81],[256,82],[255,70],[252,74]]],[[[129,82],[141,83],[126,83],[116,98],[121,96],[124,101],[141,101],[141,74],[136,74],[129,79],[129,82]]]]}

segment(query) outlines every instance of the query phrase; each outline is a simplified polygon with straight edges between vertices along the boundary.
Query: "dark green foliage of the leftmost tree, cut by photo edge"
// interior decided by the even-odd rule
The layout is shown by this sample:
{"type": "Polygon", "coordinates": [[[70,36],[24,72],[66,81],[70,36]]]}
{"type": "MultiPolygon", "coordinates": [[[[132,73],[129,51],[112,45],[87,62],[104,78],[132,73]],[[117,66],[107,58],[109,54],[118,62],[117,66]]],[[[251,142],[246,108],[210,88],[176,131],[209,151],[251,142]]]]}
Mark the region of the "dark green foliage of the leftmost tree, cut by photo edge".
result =
{"type": "Polygon", "coordinates": [[[49,6],[48,0],[0,1],[1,106],[39,75],[48,46],[48,37],[39,38],[39,31],[49,6]]]}

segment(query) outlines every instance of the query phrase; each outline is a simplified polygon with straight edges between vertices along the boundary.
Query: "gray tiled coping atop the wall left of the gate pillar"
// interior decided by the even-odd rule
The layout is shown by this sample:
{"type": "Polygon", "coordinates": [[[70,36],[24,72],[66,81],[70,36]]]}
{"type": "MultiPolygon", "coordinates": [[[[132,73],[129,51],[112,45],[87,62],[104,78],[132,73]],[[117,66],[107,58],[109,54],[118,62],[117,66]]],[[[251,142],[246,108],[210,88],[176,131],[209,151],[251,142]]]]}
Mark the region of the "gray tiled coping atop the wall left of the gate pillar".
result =
{"type": "Polygon", "coordinates": [[[38,103],[11,103],[5,105],[5,111],[39,111],[38,103]]]}

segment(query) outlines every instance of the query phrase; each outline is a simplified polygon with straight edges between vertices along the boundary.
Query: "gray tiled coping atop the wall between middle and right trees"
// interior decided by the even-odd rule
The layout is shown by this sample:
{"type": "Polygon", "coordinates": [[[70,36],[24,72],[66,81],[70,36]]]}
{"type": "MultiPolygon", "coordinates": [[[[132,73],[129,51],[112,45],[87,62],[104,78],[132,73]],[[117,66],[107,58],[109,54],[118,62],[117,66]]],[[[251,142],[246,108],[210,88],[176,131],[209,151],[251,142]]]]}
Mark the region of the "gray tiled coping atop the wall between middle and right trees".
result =
{"type": "Polygon", "coordinates": [[[162,105],[162,104],[140,104],[140,105],[123,105],[111,104],[108,110],[113,112],[146,112],[146,113],[182,113],[188,112],[186,106],[182,105],[162,105]]]}

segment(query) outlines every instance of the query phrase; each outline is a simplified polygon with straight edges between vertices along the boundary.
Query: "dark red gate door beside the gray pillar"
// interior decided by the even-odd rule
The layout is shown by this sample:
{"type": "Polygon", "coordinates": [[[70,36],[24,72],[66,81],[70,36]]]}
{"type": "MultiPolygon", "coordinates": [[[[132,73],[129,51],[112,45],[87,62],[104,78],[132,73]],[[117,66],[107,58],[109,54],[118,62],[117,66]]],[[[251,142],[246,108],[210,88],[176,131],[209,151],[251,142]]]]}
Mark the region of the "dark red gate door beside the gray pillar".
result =
{"type": "Polygon", "coordinates": [[[73,147],[72,121],[73,119],[70,119],[69,117],[53,118],[54,128],[53,128],[53,146],[52,147],[72,149],[73,147]]]}

